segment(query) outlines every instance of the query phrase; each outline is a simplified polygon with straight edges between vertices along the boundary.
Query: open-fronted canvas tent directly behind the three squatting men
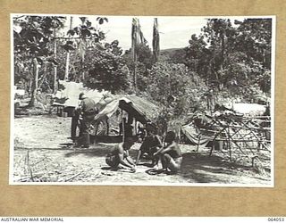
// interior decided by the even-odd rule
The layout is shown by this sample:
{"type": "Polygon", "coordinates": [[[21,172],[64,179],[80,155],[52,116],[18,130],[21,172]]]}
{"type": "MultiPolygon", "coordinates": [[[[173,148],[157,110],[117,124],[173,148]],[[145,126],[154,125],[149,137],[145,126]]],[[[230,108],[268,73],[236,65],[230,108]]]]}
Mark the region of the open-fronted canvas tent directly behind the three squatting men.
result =
{"type": "Polygon", "coordinates": [[[105,143],[122,142],[125,136],[137,135],[138,127],[154,120],[158,114],[156,104],[136,95],[103,97],[97,108],[92,135],[97,142],[105,143]]]}

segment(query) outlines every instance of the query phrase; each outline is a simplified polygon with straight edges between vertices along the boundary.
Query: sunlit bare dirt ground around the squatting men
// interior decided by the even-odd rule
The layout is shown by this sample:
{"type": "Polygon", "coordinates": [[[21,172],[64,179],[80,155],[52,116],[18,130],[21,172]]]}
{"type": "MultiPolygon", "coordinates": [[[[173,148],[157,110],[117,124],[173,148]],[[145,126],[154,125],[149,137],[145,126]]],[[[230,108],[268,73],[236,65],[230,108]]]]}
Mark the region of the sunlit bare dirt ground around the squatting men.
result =
{"type": "MultiPolygon", "coordinates": [[[[148,174],[148,163],[141,161],[137,172],[114,171],[105,164],[105,154],[114,144],[96,144],[88,149],[73,148],[71,118],[55,115],[21,116],[14,119],[13,181],[73,182],[87,184],[182,185],[188,183],[269,185],[270,172],[257,171],[251,161],[230,162],[221,153],[209,156],[208,148],[181,145],[183,162],[177,175],[148,174]]],[[[133,145],[135,158],[140,144],[133,145]]],[[[13,148],[12,148],[13,149],[13,148]]]]}

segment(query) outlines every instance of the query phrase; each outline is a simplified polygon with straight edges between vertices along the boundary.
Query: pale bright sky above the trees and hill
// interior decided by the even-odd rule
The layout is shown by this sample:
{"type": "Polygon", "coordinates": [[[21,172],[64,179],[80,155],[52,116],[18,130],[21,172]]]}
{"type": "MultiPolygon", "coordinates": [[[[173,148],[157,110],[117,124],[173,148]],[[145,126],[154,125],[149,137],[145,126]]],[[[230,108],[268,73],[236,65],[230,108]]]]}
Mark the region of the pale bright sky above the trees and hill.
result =
{"type": "MultiPolygon", "coordinates": [[[[73,26],[80,24],[79,17],[73,17],[73,26]]],[[[93,26],[97,26],[97,16],[88,16],[93,26]]],[[[129,16],[107,16],[108,22],[98,25],[106,33],[106,42],[115,39],[120,46],[127,50],[131,46],[131,22],[133,17],[129,16]]],[[[139,19],[144,37],[148,45],[152,47],[153,23],[155,17],[136,17],[139,19]]],[[[206,25],[206,18],[203,17],[157,17],[160,33],[160,48],[185,47],[189,43],[192,34],[199,34],[206,25]]],[[[67,21],[70,19],[68,18],[67,21]]]]}

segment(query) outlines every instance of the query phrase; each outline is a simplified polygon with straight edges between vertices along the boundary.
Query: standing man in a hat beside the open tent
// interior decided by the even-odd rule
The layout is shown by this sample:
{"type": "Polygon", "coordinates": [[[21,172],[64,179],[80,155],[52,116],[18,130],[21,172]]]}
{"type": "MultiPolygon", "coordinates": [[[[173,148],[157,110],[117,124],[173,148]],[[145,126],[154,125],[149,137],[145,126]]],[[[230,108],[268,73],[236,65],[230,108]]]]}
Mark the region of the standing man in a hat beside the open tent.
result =
{"type": "Polygon", "coordinates": [[[82,133],[83,140],[82,145],[88,148],[90,145],[88,128],[90,127],[91,121],[95,119],[95,116],[97,114],[96,103],[93,99],[88,98],[86,95],[84,95],[84,93],[80,93],[79,99],[81,102],[77,111],[82,116],[82,120],[80,120],[80,132],[82,133]]]}

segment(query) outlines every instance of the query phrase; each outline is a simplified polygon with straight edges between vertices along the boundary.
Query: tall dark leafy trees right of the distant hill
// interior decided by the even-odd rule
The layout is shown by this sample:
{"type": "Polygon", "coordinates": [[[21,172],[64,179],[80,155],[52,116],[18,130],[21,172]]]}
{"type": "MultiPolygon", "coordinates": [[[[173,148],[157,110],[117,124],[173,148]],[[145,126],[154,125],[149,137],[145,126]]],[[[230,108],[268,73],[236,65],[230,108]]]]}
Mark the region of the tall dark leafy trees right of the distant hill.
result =
{"type": "Polygon", "coordinates": [[[202,35],[189,40],[186,65],[219,91],[243,95],[250,85],[270,94],[271,22],[208,20],[202,35]]]}

